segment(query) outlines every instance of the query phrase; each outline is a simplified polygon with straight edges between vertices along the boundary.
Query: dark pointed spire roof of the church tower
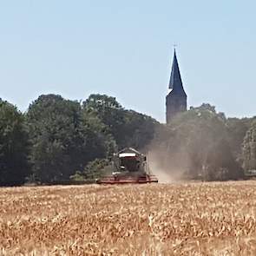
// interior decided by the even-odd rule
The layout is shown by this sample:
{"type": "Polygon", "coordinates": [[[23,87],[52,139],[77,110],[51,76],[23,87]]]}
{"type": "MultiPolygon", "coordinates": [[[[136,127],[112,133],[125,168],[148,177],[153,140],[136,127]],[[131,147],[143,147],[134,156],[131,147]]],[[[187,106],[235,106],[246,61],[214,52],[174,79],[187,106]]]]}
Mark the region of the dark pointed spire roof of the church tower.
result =
{"type": "Polygon", "coordinates": [[[171,72],[171,77],[169,82],[169,89],[173,89],[174,92],[179,92],[186,95],[183,89],[182,81],[181,81],[181,73],[180,73],[175,49],[174,49],[173,67],[172,67],[172,72],[171,72]]]}

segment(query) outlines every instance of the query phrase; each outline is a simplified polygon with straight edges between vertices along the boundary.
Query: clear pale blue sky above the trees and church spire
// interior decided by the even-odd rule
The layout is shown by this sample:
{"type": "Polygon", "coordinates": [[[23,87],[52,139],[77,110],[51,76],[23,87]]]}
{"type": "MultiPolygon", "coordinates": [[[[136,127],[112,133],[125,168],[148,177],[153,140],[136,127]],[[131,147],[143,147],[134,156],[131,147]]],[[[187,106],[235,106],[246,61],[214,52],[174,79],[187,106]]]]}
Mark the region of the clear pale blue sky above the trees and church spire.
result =
{"type": "Polygon", "coordinates": [[[165,120],[178,44],[188,106],[256,115],[255,1],[0,0],[0,97],[113,95],[165,120]]]}

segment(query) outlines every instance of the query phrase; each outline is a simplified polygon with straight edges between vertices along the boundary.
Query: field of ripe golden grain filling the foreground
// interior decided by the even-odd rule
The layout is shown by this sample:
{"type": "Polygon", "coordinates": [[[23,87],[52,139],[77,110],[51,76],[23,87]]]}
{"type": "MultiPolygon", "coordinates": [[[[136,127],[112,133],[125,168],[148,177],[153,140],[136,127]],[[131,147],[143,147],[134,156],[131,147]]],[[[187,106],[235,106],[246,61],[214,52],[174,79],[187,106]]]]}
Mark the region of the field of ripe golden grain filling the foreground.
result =
{"type": "Polygon", "coordinates": [[[256,181],[0,189],[0,255],[256,255],[256,181]]]}

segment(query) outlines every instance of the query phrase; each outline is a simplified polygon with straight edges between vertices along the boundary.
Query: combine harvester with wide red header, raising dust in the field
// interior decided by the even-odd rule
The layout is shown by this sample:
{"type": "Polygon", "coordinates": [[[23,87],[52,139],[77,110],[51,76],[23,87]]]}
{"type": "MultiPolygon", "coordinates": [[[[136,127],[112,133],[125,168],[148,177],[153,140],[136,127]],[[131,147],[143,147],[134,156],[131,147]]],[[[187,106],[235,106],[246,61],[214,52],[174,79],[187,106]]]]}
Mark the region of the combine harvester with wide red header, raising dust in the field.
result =
{"type": "Polygon", "coordinates": [[[147,158],[134,148],[124,148],[113,157],[112,174],[97,180],[98,184],[128,184],[158,182],[156,176],[151,174],[147,158]]]}

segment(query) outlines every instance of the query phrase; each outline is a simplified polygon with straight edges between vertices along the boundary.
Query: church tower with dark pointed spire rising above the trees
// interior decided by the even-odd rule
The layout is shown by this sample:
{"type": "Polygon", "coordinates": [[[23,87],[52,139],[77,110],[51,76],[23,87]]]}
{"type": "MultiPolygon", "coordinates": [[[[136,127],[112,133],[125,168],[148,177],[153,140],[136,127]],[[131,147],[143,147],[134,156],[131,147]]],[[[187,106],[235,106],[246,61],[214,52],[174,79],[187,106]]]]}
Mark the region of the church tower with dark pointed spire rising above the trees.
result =
{"type": "Polygon", "coordinates": [[[181,73],[174,49],[174,61],[169,82],[171,91],[166,97],[167,124],[172,121],[174,115],[187,110],[187,95],[183,89],[181,73]]]}

